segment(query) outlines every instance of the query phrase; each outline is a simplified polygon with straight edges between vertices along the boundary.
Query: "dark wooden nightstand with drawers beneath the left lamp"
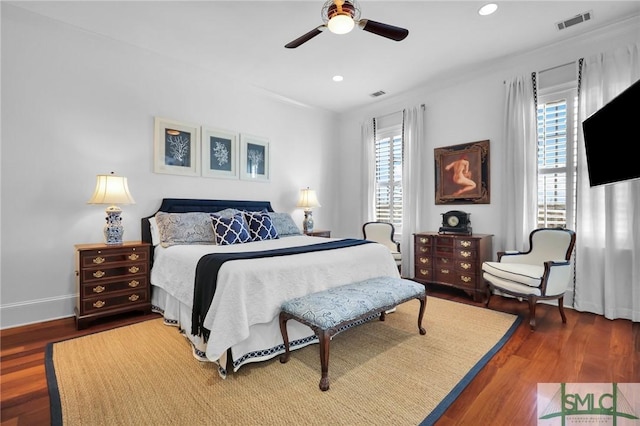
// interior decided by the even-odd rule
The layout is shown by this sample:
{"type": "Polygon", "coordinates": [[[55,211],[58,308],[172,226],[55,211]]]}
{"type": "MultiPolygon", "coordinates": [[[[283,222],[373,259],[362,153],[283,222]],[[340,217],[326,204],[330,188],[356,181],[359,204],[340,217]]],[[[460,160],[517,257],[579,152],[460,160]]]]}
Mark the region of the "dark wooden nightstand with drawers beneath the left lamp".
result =
{"type": "Polygon", "coordinates": [[[150,246],[76,244],[76,328],[100,317],[129,311],[151,312],[150,246]]]}

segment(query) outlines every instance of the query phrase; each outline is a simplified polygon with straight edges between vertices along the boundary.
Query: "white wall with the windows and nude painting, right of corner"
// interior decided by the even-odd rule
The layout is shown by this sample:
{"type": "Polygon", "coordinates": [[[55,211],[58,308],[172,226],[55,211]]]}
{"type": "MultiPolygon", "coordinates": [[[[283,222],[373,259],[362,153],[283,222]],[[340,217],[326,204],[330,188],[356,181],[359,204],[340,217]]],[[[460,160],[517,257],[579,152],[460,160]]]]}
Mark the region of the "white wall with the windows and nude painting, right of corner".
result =
{"type": "MultiPolygon", "coordinates": [[[[505,57],[501,61],[479,64],[462,72],[450,72],[416,88],[409,93],[388,99],[340,117],[340,145],[338,154],[341,180],[344,190],[340,194],[342,220],[337,222],[338,232],[358,235],[361,224],[358,215],[346,212],[360,211],[360,129],[365,119],[384,116],[421,104],[425,105],[425,143],[429,156],[423,159],[427,176],[431,177],[428,191],[424,194],[429,209],[422,212],[428,229],[437,231],[441,225],[441,213],[448,210],[463,210],[471,213],[474,233],[494,235],[494,252],[502,247],[500,223],[504,219],[502,206],[509,200],[503,198],[500,182],[503,176],[502,138],[504,117],[504,81],[516,75],[530,74],[551,67],[576,61],[595,53],[613,49],[631,42],[640,42],[640,18],[593,31],[588,37],[548,46],[518,56],[505,57]],[[433,149],[479,140],[490,140],[490,191],[491,203],[478,205],[436,205],[433,149]]],[[[454,70],[455,71],[455,70],[454,70]]],[[[407,248],[403,248],[409,253],[407,248]]]]}

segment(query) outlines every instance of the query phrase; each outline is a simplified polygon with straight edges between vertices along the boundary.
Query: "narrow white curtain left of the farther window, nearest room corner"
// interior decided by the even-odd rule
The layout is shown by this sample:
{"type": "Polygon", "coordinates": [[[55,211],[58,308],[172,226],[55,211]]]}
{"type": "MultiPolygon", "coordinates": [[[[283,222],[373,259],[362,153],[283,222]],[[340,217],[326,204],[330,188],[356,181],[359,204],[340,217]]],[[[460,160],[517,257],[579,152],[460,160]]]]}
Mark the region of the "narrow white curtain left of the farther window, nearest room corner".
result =
{"type": "Polygon", "coordinates": [[[361,129],[362,141],[362,170],[360,194],[362,197],[360,223],[370,222],[375,217],[374,191],[376,187],[376,144],[375,144],[375,120],[365,120],[361,129]]]}

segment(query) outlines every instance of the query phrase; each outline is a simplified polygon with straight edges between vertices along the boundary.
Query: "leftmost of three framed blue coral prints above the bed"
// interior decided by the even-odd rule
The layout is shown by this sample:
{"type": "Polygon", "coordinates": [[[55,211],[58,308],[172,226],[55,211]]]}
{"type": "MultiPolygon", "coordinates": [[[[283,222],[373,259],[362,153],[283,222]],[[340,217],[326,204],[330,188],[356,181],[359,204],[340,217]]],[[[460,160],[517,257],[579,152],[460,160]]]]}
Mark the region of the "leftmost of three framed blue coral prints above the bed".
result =
{"type": "Polygon", "coordinates": [[[200,176],[200,126],[156,117],[153,171],[200,176]]]}

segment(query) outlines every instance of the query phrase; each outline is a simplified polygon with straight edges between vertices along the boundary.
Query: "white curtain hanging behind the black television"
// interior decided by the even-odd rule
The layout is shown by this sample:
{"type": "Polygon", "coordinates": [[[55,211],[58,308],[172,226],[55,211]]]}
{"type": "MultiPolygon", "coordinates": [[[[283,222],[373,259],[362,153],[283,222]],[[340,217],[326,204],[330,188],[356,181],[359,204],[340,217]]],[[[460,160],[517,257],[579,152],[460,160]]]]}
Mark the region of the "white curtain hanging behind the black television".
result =
{"type": "MultiPolygon", "coordinates": [[[[586,58],[580,84],[579,122],[638,79],[636,44],[586,58]]],[[[640,180],[590,188],[581,127],[578,126],[574,307],[609,319],[640,321],[640,180]]],[[[630,135],[629,140],[616,144],[633,149],[637,139],[637,135],[630,135]]],[[[612,149],[615,146],[618,145],[612,144],[612,149]]],[[[629,151],[626,154],[635,155],[629,151]]],[[[625,151],[620,150],[620,155],[625,151]]]]}

